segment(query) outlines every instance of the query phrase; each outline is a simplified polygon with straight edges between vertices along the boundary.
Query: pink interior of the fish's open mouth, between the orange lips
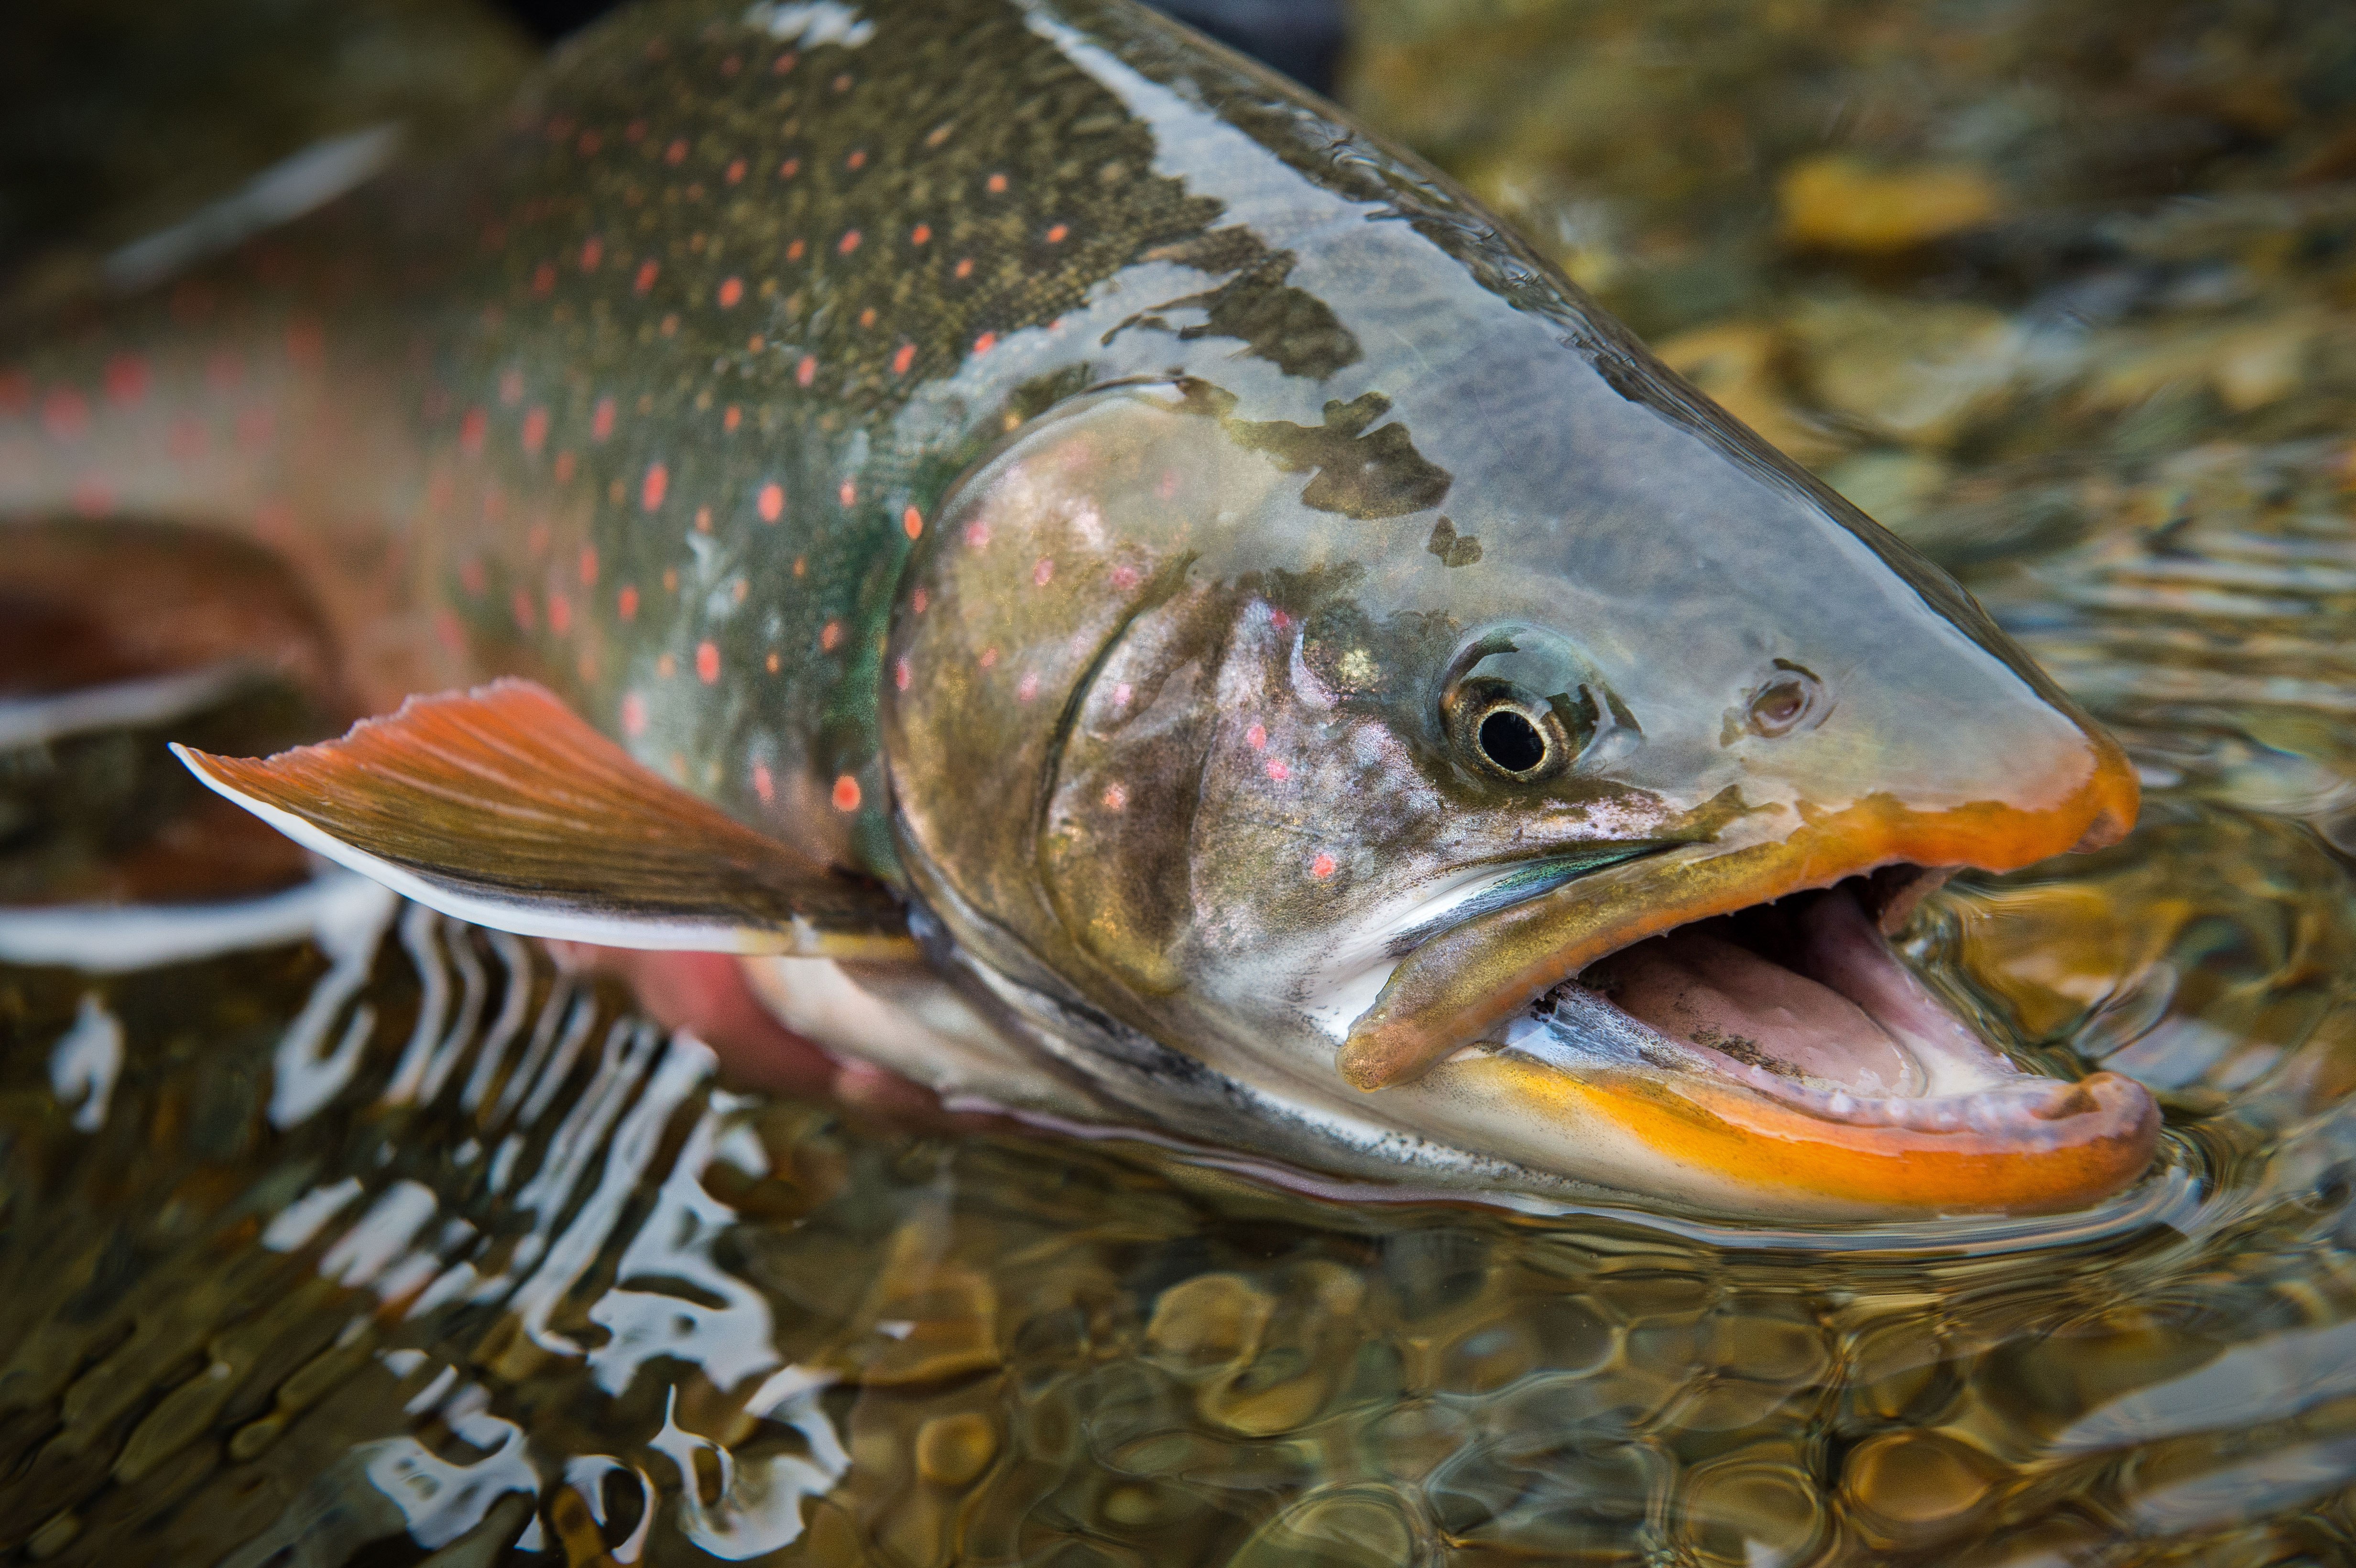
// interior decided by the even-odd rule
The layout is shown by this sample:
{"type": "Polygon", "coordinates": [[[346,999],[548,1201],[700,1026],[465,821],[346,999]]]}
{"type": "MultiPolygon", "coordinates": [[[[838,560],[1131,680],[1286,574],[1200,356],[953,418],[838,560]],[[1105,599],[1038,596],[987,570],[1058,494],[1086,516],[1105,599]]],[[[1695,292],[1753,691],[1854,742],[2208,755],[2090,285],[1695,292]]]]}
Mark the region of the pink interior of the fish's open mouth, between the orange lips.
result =
{"type": "Polygon", "coordinates": [[[1890,949],[1866,913],[1882,885],[1849,881],[1682,925],[1595,963],[1581,984],[1779,1097],[1920,1102],[2019,1085],[2024,1074],[1890,949]]]}

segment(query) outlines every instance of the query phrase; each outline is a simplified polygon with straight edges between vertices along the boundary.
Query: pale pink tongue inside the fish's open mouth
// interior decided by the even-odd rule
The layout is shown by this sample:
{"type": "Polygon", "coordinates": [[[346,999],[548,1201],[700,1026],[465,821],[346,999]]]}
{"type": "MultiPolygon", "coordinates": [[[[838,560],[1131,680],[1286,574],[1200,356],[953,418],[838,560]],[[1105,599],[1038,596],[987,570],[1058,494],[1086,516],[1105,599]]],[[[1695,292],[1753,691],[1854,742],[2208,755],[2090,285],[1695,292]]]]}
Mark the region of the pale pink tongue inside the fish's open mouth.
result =
{"type": "MultiPolygon", "coordinates": [[[[1847,895],[1835,895],[1849,902],[1847,895]]],[[[1852,904],[1854,909],[1854,904],[1852,904]]],[[[1767,1071],[1857,1095],[1915,1095],[1925,1074],[1899,1041],[1831,984],[1687,925],[1593,970],[1612,1003],[1661,1034],[1767,1071]]]]}

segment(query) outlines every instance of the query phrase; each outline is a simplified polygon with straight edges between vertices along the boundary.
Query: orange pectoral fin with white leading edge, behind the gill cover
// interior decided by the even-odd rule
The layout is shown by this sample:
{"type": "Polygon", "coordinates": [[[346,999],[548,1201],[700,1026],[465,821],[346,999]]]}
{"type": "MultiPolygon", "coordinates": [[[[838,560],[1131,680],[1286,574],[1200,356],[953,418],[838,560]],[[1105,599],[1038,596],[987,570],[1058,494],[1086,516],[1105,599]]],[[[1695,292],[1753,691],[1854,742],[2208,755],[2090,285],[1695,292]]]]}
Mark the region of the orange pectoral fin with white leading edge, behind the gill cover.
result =
{"type": "Polygon", "coordinates": [[[412,697],[273,758],[172,751],[297,843],[495,930],[636,949],[914,951],[886,888],[660,779],[528,680],[412,697]]]}

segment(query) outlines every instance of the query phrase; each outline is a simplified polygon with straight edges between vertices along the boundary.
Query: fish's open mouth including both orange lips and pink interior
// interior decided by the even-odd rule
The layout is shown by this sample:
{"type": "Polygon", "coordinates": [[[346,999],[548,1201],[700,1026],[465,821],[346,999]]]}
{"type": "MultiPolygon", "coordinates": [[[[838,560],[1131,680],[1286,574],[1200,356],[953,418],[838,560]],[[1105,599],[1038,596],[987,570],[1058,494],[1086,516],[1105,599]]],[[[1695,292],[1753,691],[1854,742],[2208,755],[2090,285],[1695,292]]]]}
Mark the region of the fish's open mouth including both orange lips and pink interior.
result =
{"type": "Polygon", "coordinates": [[[1692,1191],[1769,1208],[2090,1203],[2151,1163],[2149,1090],[2019,1069],[1890,932],[1955,866],[2120,838],[2132,772],[2120,760],[2092,784],[2080,793],[2099,798],[2038,822],[1852,808],[1779,843],[1677,848],[1484,911],[1402,961],[1338,1067],[1359,1088],[1437,1069],[1447,1092],[1510,1107],[1517,1147],[1543,1128],[1567,1149],[1633,1144],[1692,1191]]]}

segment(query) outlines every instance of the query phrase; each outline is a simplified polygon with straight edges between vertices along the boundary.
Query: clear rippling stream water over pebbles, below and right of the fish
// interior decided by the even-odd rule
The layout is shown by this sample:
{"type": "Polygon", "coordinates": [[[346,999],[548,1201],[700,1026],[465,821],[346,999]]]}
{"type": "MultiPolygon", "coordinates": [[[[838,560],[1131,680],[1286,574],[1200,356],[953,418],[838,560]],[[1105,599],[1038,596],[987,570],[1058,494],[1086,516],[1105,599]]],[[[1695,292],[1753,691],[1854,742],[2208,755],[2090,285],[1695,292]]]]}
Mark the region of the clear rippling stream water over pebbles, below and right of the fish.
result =
{"type": "MultiPolygon", "coordinates": [[[[1908,935],[2024,1057],[2160,1095],[2118,1205],[1315,1196],[737,1095],[608,982],[342,876],[0,911],[0,1552],[2356,1561],[2349,19],[1362,7],[1369,113],[2127,739],[2125,845],[1908,935]]],[[[0,756],[0,892],[217,885],[148,753],[0,756]]]]}

